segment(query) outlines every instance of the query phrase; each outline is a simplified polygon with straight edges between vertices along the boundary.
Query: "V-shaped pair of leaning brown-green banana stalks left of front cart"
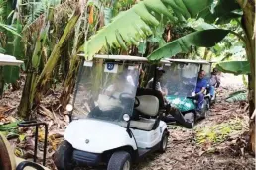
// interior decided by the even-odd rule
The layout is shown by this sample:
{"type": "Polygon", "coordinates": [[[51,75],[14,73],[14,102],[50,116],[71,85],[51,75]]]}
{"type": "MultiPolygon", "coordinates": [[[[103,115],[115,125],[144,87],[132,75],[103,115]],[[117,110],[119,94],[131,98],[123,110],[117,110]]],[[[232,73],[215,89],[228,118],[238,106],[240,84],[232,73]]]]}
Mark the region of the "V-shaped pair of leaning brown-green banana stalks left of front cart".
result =
{"type": "Polygon", "coordinates": [[[61,57],[61,48],[64,42],[69,38],[70,33],[80,16],[80,10],[79,8],[76,8],[75,12],[73,13],[72,17],[69,19],[64,28],[64,33],[61,39],[54,46],[53,51],[51,52],[51,55],[46,65],[44,66],[44,69],[39,75],[36,75],[42,55],[42,48],[44,46],[46,36],[49,33],[49,26],[52,18],[51,15],[53,15],[53,13],[50,12],[49,15],[50,16],[46,18],[46,24],[42,28],[42,32],[36,42],[36,46],[32,56],[31,69],[29,70],[30,72],[27,75],[22,99],[19,105],[18,114],[23,118],[28,118],[30,116],[30,111],[33,109],[33,106],[36,106],[40,102],[42,94],[45,92],[46,83],[49,81],[52,75],[51,73],[53,72],[58,60],[61,57]]]}

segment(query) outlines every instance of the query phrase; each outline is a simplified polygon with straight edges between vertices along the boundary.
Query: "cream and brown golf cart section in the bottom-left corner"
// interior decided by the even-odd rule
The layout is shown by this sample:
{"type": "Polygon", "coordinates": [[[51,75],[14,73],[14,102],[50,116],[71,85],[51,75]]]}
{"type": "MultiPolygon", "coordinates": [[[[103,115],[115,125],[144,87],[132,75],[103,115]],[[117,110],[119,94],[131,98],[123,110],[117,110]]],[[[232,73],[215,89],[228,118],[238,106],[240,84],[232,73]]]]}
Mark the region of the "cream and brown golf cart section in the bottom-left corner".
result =
{"type": "Polygon", "coordinates": [[[1,170],[49,170],[37,163],[16,157],[10,143],[0,133],[0,169],[1,170]]]}

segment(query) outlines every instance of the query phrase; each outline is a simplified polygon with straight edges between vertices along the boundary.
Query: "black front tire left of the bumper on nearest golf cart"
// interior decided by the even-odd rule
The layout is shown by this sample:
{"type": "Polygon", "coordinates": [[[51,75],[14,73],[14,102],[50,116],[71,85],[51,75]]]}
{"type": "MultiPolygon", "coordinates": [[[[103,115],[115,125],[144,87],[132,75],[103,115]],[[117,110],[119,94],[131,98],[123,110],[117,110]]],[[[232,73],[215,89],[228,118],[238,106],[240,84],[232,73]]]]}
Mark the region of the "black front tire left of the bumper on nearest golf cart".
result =
{"type": "Polygon", "coordinates": [[[53,155],[54,163],[58,170],[71,170],[72,145],[64,140],[53,155]]]}

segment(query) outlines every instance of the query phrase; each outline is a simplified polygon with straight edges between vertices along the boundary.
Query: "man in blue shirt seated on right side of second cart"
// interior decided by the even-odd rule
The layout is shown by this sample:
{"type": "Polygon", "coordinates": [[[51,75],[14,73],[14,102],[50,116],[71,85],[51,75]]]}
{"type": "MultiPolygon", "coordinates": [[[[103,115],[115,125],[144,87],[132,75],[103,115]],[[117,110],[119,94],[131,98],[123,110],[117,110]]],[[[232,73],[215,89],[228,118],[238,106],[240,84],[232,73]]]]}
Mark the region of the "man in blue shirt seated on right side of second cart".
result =
{"type": "Polygon", "coordinates": [[[207,87],[207,80],[204,79],[205,71],[201,70],[198,74],[197,84],[195,87],[195,97],[198,100],[197,110],[202,108],[203,100],[204,100],[204,91],[207,87]]]}

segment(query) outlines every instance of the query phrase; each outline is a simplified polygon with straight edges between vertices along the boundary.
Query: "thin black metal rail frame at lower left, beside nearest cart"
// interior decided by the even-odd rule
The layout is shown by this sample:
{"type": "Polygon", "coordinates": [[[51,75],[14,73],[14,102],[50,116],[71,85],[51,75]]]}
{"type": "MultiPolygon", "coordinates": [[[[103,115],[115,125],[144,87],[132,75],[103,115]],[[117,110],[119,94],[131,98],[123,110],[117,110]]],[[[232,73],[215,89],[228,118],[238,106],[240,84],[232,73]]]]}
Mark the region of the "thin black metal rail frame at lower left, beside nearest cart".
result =
{"type": "Polygon", "coordinates": [[[35,133],[35,147],[34,147],[34,156],[33,162],[36,163],[37,160],[37,148],[38,148],[38,128],[39,126],[45,126],[45,140],[44,140],[44,152],[43,152],[43,166],[46,165],[46,156],[47,156],[47,136],[48,136],[48,125],[47,123],[37,122],[37,121],[24,121],[17,124],[19,127],[36,127],[35,133]]]}

